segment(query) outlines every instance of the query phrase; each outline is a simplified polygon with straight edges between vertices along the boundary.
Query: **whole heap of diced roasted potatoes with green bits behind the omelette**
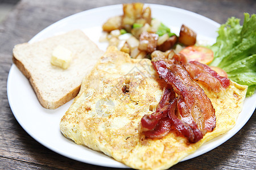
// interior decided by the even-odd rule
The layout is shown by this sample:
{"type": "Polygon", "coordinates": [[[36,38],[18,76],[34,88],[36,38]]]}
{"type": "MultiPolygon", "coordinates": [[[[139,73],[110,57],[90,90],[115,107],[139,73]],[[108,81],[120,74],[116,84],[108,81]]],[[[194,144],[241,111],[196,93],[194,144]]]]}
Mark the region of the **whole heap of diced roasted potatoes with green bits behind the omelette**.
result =
{"type": "MultiPolygon", "coordinates": [[[[144,7],[143,3],[123,4],[123,15],[108,19],[102,30],[105,34],[101,41],[109,41],[109,46],[117,46],[131,58],[146,58],[156,49],[165,52],[178,42],[170,28],[151,18],[150,7],[144,7]]],[[[196,42],[196,33],[185,25],[181,27],[180,37],[182,44],[193,45],[196,42]]]]}

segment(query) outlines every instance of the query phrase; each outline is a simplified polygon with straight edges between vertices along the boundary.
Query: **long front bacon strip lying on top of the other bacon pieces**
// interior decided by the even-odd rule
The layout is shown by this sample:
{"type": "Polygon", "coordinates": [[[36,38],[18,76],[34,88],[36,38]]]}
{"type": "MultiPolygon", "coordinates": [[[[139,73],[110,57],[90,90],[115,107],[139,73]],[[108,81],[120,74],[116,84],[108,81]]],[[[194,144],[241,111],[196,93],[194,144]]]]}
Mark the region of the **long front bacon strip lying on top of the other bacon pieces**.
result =
{"type": "Polygon", "coordinates": [[[212,131],[216,126],[215,111],[209,98],[191,79],[185,67],[175,59],[168,62],[156,61],[152,64],[160,78],[170,84],[178,95],[177,115],[181,122],[178,122],[176,117],[171,117],[174,114],[169,114],[172,122],[176,122],[175,128],[187,137],[189,142],[199,141],[207,131],[212,131]]]}

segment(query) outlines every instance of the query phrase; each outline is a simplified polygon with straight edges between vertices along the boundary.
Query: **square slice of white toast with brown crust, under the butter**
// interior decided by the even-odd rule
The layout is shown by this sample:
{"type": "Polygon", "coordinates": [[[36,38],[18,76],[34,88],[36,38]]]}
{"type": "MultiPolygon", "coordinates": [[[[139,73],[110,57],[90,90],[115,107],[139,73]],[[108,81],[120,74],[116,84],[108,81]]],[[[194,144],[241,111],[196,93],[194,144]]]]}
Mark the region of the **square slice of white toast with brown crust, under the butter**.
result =
{"type": "Polygon", "coordinates": [[[78,94],[82,79],[102,54],[84,32],[75,30],[31,44],[15,45],[13,62],[29,80],[40,104],[56,109],[78,94]],[[51,64],[52,52],[58,45],[72,52],[67,69],[51,64]]]}

